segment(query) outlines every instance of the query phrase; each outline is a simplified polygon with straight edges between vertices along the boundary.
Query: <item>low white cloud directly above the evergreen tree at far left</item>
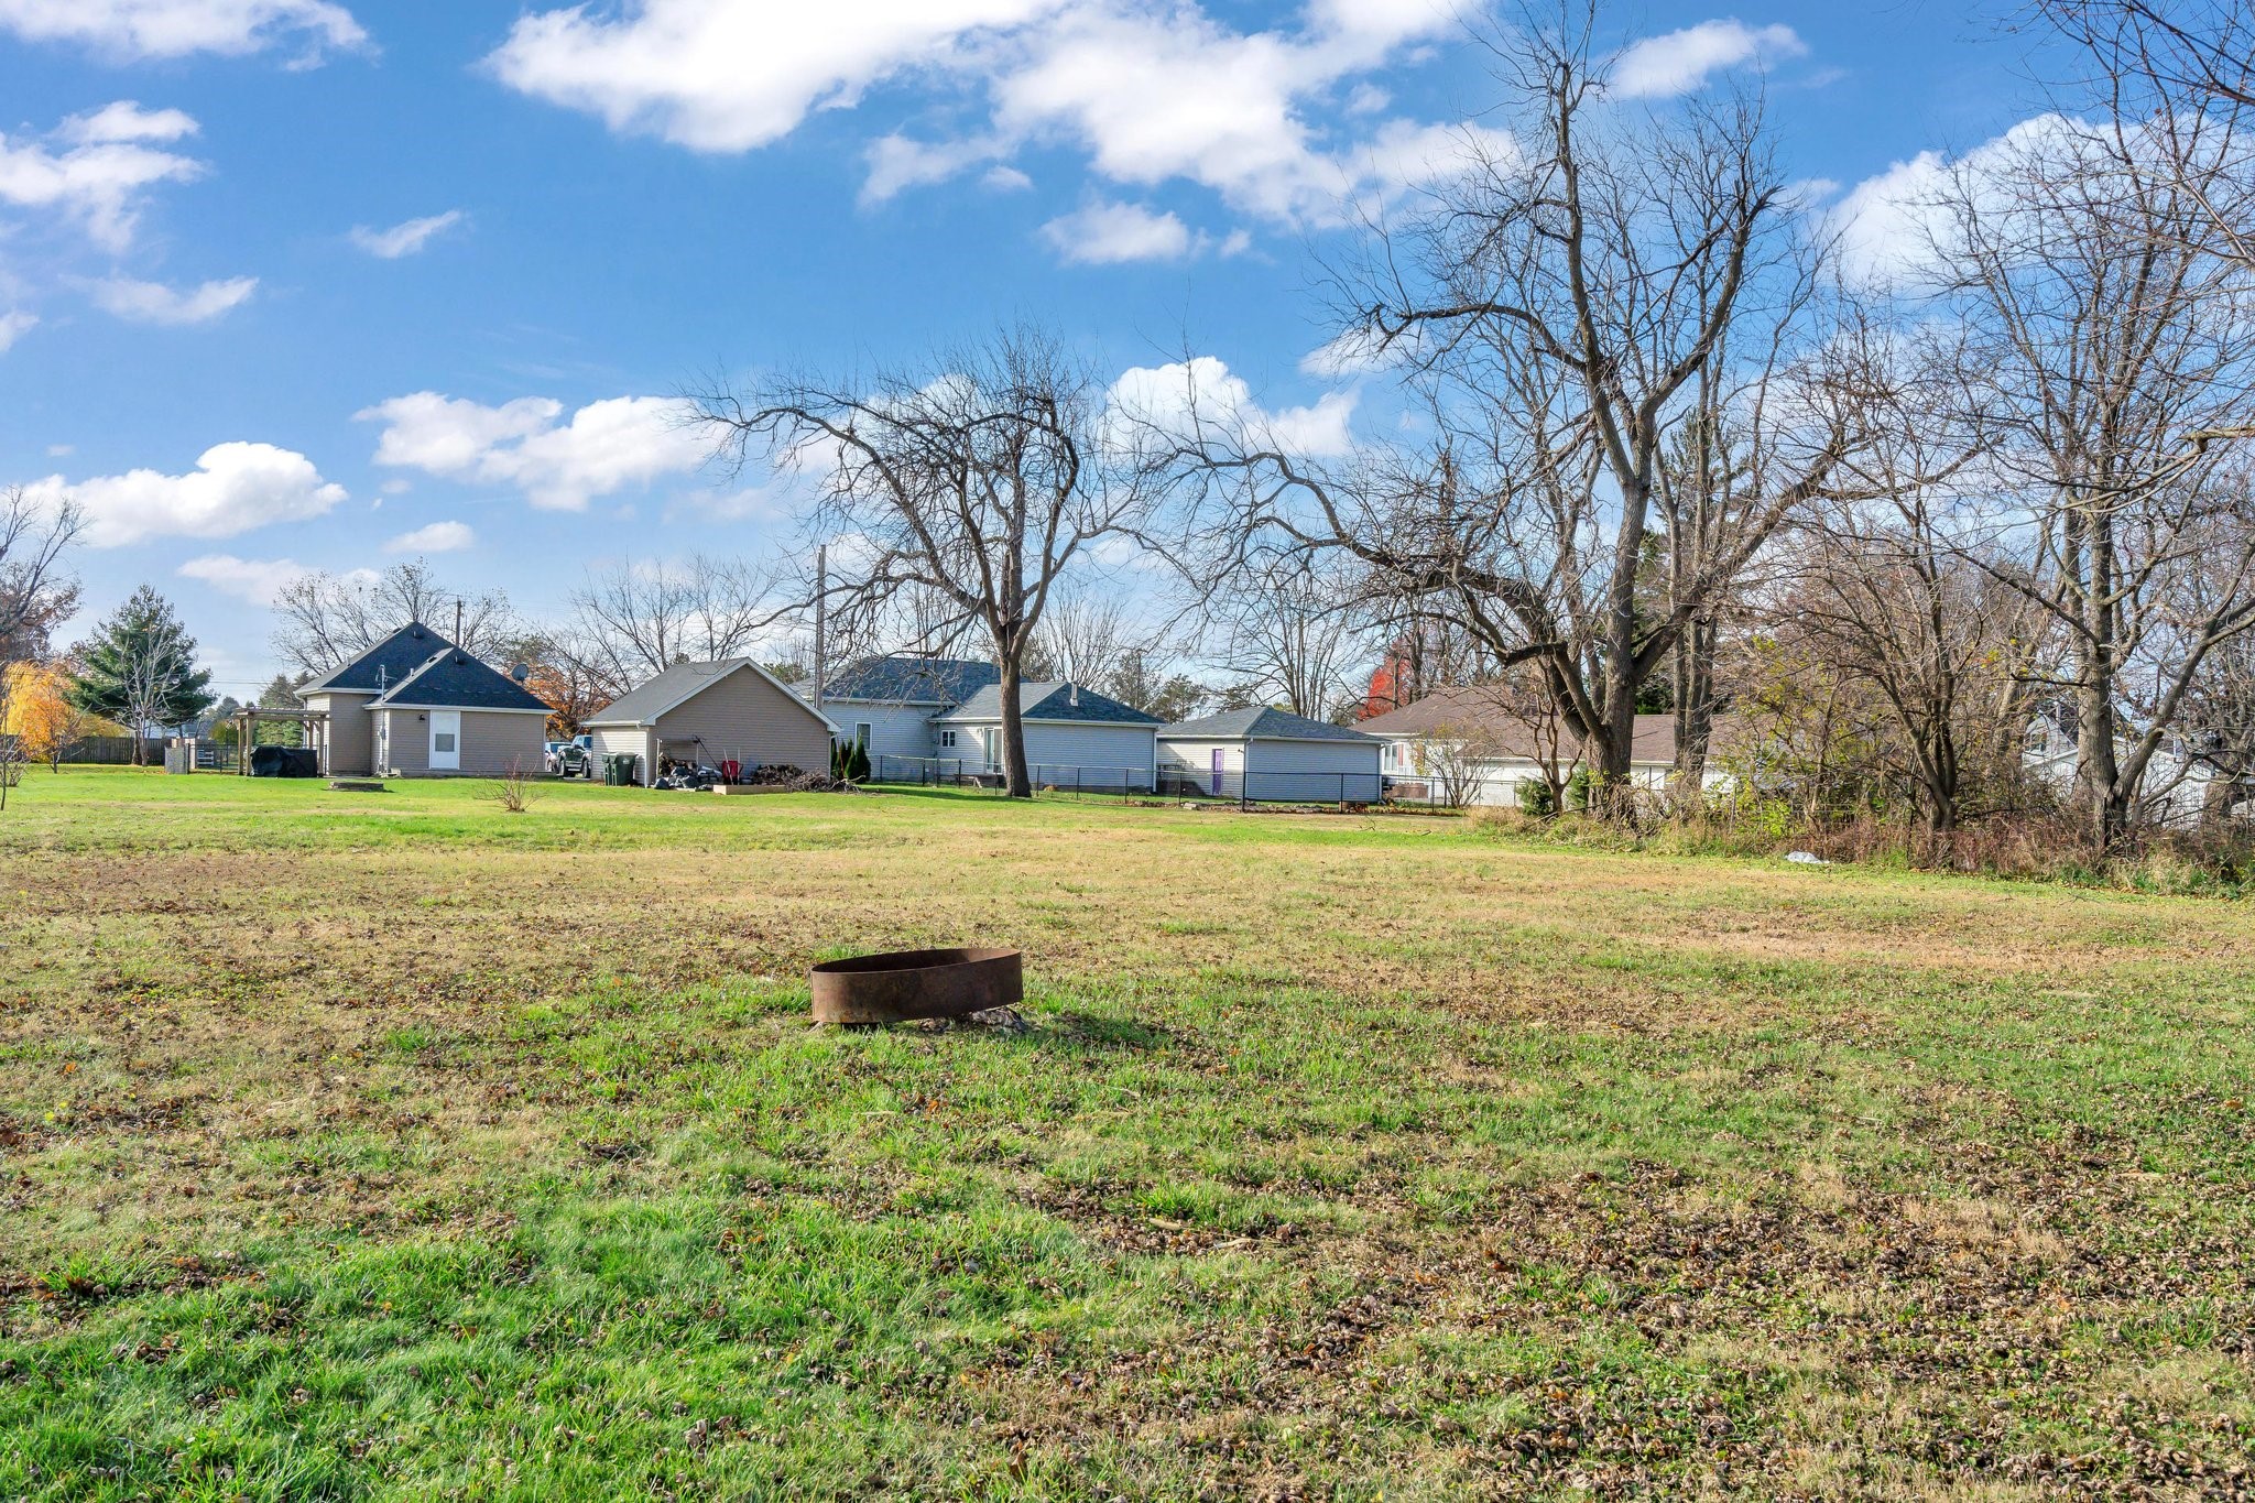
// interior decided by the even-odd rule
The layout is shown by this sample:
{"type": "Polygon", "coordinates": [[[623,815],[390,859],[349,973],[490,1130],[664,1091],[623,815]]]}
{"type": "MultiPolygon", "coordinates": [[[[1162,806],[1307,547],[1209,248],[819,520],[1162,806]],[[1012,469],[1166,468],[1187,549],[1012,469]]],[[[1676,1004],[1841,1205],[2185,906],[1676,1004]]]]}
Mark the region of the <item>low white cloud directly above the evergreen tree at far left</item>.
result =
{"type": "Polygon", "coordinates": [[[302,453],[273,444],[214,444],[185,475],[135,469],[124,475],[25,487],[36,505],[77,505],[92,548],[122,548],[158,536],[226,539],[268,523],[322,516],[345,500],[302,453]]]}

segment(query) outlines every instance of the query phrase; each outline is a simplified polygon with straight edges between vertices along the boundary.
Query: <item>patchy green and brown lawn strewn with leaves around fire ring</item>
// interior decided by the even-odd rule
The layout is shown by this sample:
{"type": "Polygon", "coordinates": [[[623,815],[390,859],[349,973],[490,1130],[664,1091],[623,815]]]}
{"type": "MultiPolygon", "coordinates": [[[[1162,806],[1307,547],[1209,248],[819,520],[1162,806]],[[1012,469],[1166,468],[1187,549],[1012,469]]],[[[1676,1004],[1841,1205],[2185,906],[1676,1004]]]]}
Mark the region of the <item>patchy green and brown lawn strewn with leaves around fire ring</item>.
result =
{"type": "Polygon", "coordinates": [[[25,777],[0,1496],[2255,1489],[2246,904],[478,791],[25,777]]]}

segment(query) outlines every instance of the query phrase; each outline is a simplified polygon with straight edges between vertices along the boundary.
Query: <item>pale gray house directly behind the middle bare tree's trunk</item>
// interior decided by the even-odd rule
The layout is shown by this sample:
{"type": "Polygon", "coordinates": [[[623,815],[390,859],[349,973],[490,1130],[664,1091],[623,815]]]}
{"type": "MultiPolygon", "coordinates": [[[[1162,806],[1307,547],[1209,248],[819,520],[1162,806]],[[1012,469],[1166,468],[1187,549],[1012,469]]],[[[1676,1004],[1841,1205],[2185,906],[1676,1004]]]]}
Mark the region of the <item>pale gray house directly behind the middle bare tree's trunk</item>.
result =
{"type": "MultiPolygon", "coordinates": [[[[1159,784],[1157,714],[1143,714],[1076,683],[1022,683],[1026,771],[1033,786],[1155,789],[1159,784]]],[[[1001,771],[1001,687],[988,685],[931,719],[934,753],[965,773],[1001,771]]]]}

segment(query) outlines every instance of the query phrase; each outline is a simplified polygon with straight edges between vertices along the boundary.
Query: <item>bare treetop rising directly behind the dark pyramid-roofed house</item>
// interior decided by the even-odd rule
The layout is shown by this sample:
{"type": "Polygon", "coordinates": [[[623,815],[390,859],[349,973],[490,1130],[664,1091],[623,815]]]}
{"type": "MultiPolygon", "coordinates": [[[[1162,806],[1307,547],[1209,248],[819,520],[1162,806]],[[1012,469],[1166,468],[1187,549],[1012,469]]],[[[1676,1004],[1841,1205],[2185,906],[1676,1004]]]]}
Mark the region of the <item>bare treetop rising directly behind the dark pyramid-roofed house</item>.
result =
{"type": "Polygon", "coordinates": [[[282,586],[273,649],[300,674],[322,676],[408,622],[453,633],[456,606],[462,608],[456,647],[505,667],[507,644],[523,633],[507,595],[467,595],[440,581],[422,559],[392,563],[381,575],[313,572],[282,586]]]}

